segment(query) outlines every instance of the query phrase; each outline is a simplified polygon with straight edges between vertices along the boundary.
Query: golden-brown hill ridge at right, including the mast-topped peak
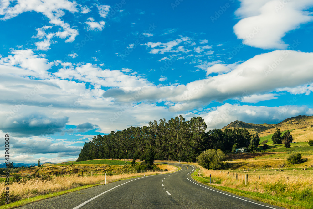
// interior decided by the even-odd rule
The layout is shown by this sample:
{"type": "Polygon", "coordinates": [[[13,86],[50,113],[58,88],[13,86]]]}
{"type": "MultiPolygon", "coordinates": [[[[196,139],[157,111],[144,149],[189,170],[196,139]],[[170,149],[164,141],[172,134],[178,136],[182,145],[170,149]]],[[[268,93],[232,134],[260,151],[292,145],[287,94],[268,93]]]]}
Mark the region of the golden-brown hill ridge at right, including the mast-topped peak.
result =
{"type": "Polygon", "coordinates": [[[279,128],[281,131],[285,131],[303,129],[305,127],[313,127],[312,115],[298,115],[292,118],[287,118],[278,124],[254,124],[236,120],[229,123],[227,126],[222,128],[222,130],[225,130],[226,128],[246,128],[251,135],[258,133],[259,137],[262,137],[274,133],[276,128],[279,128]]]}

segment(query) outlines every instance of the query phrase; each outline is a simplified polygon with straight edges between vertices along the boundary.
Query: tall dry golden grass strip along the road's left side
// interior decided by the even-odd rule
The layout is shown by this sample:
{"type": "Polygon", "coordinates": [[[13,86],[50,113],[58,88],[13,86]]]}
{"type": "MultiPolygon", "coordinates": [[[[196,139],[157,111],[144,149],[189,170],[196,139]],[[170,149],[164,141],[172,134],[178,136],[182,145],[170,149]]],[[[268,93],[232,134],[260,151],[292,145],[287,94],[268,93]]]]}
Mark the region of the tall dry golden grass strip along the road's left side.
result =
{"type": "MultiPolygon", "coordinates": [[[[161,169],[168,169],[169,173],[176,170],[175,167],[169,165],[159,166],[161,169]]],[[[146,172],[145,175],[159,174],[160,172],[146,172]]],[[[121,179],[127,179],[131,177],[143,176],[143,173],[131,173],[120,175],[107,175],[106,182],[111,183],[121,179]]],[[[5,182],[0,183],[0,191],[4,191],[6,185],[5,182]]],[[[26,199],[29,197],[35,197],[38,195],[44,195],[64,190],[73,189],[79,186],[92,185],[92,184],[105,184],[105,175],[71,175],[71,176],[57,176],[52,177],[51,180],[40,180],[39,178],[33,178],[31,180],[10,183],[10,194],[14,196],[14,201],[26,199]]]]}

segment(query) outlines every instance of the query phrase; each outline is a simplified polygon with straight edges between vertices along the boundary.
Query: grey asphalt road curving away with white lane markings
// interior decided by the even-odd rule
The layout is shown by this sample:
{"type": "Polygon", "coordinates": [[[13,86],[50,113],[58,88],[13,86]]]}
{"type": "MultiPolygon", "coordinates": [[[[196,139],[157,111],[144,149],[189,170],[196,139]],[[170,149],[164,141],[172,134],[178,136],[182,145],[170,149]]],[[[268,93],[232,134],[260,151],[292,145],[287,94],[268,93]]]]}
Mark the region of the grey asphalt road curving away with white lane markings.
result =
{"type": "Polygon", "coordinates": [[[190,177],[194,166],[173,165],[181,166],[182,169],[171,174],[100,185],[19,208],[280,208],[200,184],[190,177]]]}

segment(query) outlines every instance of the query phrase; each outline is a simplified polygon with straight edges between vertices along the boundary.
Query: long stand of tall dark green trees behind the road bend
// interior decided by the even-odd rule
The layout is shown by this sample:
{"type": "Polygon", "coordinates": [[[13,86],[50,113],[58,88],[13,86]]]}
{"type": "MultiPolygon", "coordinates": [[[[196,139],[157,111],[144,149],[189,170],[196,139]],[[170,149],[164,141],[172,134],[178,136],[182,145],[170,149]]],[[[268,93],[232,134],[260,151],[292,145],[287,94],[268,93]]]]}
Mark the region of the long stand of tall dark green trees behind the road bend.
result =
{"type": "Polygon", "coordinates": [[[111,131],[107,135],[95,136],[85,142],[77,161],[91,159],[141,159],[196,161],[196,157],[208,149],[231,152],[233,146],[259,145],[259,137],[251,137],[247,129],[207,128],[203,118],[182,116],[168,121],[161,119],[149,122],[148,126],[129,127],[122,131],[111,131]],[[253,139],[253,140],[252,140],[253,139]]]}

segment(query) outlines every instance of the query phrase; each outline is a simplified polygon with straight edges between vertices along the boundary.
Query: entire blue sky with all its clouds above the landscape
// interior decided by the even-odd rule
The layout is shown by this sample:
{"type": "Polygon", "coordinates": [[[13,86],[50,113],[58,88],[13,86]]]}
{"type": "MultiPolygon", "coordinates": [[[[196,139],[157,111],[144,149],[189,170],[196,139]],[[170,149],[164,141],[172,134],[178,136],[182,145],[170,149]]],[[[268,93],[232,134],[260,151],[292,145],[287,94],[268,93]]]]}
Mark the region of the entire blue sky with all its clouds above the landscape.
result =
{"type": "Polygon", "coordinates": [[[312,115],[312,12],[313,0],[1,0],[11,161],[75,160],[95,135],[178,115],[208,130],[312,115]]]}

